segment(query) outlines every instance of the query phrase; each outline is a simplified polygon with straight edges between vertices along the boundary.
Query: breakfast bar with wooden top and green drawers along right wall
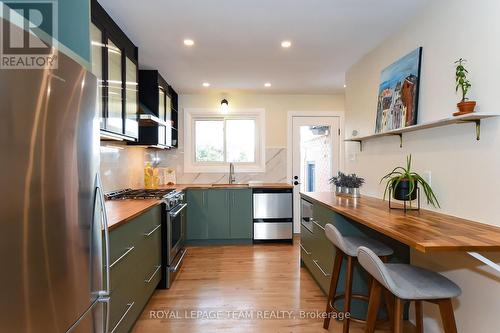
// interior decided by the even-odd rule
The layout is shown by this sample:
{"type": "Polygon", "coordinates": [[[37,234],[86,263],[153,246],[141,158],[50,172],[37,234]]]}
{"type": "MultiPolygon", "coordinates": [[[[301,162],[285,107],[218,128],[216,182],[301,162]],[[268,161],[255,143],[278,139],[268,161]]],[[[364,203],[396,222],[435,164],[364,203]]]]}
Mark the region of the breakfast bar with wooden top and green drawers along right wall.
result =
{"type": "MultiPolygon", "coordinates": [[[[301,265],[328,294],[335,249],[326,238],[325,225],[333,224],[344,236],[366,236],[394,250],[391,262],[410,263],[410,249],[424,253],[464,251],[490,267],[500,266],[476,251],[500,250],[500,228],[421,209],[389,209],[387,201],[363,196],[347,198],[331,192],[305,192],[301,196],[301,265]]],[[[337,293],[342,294],[346,259],[342,262],[337,293]]],[[[368,295],[368,274],[359,265],[353,272],[353,294],[368,295]]],[[[342,300],[336,305],[342,308],[342,300]]],[[[353,299],[351,313],[365,318],[366,301],[353,299]]],[[[407,311],[406,311],[407,312],[407,311]]]]}

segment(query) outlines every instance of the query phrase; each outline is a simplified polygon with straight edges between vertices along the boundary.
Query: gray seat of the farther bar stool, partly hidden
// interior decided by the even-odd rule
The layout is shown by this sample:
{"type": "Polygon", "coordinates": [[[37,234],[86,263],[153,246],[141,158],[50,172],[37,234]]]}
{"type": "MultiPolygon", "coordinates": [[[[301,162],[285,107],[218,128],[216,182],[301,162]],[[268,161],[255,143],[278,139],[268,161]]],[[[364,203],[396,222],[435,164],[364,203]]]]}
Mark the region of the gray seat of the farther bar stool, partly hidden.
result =
{"type": "Polygon", "coordinates": [[[342,236],[338,229],[330,223],[327,223],[325,226],[325,234],[330,242],[350,257],[358,256],[358,248],[360,246],[371,249],[379,257],[387,257],[394,253],[394,251],[384,243],[369,237],[342,236]]]}

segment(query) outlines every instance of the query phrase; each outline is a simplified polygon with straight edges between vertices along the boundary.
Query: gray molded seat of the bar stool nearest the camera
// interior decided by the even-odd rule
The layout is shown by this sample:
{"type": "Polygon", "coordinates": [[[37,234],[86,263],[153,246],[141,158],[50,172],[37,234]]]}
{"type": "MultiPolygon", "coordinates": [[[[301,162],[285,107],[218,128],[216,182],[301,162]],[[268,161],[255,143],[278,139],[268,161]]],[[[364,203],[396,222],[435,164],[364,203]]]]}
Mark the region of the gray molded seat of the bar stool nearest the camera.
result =
{"type": "Polygon", "coordinates": [[[392,294],[401,299],[455,298],[461,289],[443,275],[407,264],[385,264],[369,248],[358,249],[358,260],[392,294]]]}

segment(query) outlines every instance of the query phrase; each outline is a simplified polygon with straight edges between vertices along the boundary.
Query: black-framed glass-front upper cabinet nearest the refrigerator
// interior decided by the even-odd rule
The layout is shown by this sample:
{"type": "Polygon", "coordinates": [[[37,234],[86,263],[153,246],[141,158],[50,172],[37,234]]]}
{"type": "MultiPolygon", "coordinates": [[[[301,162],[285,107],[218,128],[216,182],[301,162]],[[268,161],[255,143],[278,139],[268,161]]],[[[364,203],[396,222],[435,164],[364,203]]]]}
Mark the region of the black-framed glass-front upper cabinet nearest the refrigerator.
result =
{"type": "Polygon", "coordinates": [[[95,0],[91,14],[92,72],[99,82],[101,138],[137,141],[137,47],[95,0]]]}

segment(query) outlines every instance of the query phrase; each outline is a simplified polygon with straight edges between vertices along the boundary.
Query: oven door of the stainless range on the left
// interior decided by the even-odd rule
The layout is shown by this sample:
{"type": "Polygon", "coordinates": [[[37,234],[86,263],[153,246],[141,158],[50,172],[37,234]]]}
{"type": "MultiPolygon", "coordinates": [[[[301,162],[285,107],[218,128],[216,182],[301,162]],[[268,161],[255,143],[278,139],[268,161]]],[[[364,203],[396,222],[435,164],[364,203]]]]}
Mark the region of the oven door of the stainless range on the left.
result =
{"type": "Polygon", "coordinates": [[[185,215],[187,204],[177,205],[168,212],[167,222],[167,249],[168,265],[171,265],[174,258],[184,247],[185,242],[185,215]]]}

